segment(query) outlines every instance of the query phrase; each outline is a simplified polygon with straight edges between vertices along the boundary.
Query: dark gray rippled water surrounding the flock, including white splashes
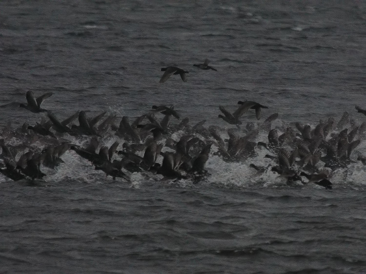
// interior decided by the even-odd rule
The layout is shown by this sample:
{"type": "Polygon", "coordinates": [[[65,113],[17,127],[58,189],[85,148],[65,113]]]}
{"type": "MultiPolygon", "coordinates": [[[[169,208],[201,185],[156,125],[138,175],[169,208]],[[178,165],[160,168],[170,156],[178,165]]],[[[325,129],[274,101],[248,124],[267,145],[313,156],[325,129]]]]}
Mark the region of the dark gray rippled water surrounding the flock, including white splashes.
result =
{"type": "MultiPolygon", "coordinates": [[[[365,55],[363,1],[0,2],[0,105],[25,102],[27,90],[53,92],[42,106],[62,118],[137,117],[167,104],[224,136],[235,126],[217,117],[219,106],[233,111],[247,99],[269,107],[263,117],[279,114],[273,127],[345,111],[359,125],[365,55]],[[192,66],[206,58],[217,72],[192,66]],[[188,81],[160,84],[168,65],[188,70],[188,81]]],[[[0,109],[1,127],[41,119],[0,109]]],[[[242,120],[257,122],[253,113],[242,120]]],[[[112,180],[73,151],[42,169],[38,187],[1,175],[0,272],[366,272],[364,164],[334,171],[328,191],[258,175],[248,165],[269,164],[264,150],[240,162],[216,150],[198,184],[141,173],[112,180]]],[[[351,158],[365,152],[361,138],[351,158]]]]}

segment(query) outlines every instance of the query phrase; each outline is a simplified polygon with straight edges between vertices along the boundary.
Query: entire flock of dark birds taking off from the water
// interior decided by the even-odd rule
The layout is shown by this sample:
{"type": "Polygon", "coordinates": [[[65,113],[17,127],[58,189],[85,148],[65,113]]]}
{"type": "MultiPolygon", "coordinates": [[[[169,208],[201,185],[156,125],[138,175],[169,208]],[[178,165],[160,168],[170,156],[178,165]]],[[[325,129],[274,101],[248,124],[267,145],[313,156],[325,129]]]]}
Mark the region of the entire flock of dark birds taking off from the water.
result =
{"type": "MultiPolygon", "coordinates": [[[[207,60],[194,66],[216,71],[208,66],[207,60]]],[[[183,81],[187,80],[185,74],[188,72],[180,68],[169,66],[162,71],[164,74],[160,82],[178,74],[183,81]]],[[[152,106],[151,111],[133,122],[124,116],[118,123],[115,115],[106,116],[106,112],[87,117],[84,111],[59,120],[52,111],[41,108],[43,101],[51,95],[46,93],[36,98],[32,91],[28,91],[26,104],[11,103],[33,113],[45,112],[48,120],[41,120],[35,125],[24,123],[18,129],[7,125],[1,130],[2,175],[14,181],[34,183],[44,180],[46,174],[42,166],[57,168],[64,163],[61,157],[70,151],[113,179],[120,177],[130,181],[129,175],[139,172],[146,177],[161,174],[169,179],[191,179],[197,183],[209,176],[205,164],[210,154],[227,162],[244,162],[257,155],[257,150],[266,150],[265,157],[270,159],[270,164],[249,165],[258,174],[275,172],[284,177],[287,184],[315,183],[331,189],[334,170],[346,168],[352,161],[366,164],[364,155],[359,154],[356,160],[350,157],[366,133],[366,122],[357,125],[347,112],[338,122],[331,117],[321,120],[313,128],[300,122],[285,128],[272,128],[272,122],[278,118],[277,113],[259,122],[262,109],[268,107],[255,101],[239,101],[233,113],[219,107],[222,114],[218,117],[236,125],[236,128],[229,129],[214,125],[206,128],[205,120],[189,125],[189,119],[181,120],[174,106],[165,105],[152,106]],[[241,117],[250,110],[255,111],[258,122],[248,122],[243,130],[240,128],[243,124],[241,117]],[[265,142],[256,141],[260,133],[267,135],[265,142]],[[224,135],[226,138],[222,137],[224,135]],[[106,146],[103,141],[111,138],[117,140],[106,146]],[[215,147],[215,152],[211,153],[212,147],[215,147]]],[[[358,106],[356,110],[366,115],[366,110],[358,106]]]]}

